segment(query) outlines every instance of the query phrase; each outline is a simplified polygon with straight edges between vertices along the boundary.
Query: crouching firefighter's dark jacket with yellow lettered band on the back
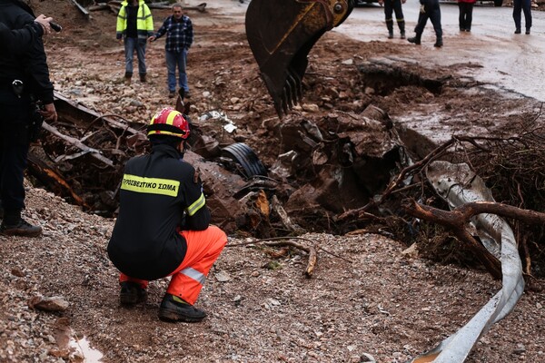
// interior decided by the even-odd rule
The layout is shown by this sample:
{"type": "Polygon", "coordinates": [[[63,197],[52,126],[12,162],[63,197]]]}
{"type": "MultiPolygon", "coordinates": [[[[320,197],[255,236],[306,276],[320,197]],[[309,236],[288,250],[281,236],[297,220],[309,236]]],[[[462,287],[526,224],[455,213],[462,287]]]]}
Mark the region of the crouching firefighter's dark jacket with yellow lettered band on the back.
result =
{"type": "Polygon", "coordinates": [[[125,275],[161,279],[185,257],[187,244],[178,231],[203,231],[210,218],[193,166],[173,146],[154,145],[151,154],[125,165],[108,255],[125,275]]]}

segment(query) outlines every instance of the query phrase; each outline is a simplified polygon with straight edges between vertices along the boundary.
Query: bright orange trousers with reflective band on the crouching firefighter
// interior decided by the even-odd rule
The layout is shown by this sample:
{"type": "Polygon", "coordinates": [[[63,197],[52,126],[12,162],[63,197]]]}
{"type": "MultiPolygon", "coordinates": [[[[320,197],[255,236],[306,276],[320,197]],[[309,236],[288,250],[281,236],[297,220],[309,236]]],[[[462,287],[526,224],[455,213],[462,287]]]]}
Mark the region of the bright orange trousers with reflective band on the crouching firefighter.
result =
{"type": "MultiPolygon", "coordinates": [[[[166,292],[193,305],[203,289],[208,271],[227,243],[227,236],[216,226],[204,231],[180,231],[180,234],[187,241],[187,251],[180,266],[168,275],[172,278],[166,292]]],[[[119,281],[137,282],[144,289],[148,284],[146,280],[134,279],[124,273],[119,281]]]]}

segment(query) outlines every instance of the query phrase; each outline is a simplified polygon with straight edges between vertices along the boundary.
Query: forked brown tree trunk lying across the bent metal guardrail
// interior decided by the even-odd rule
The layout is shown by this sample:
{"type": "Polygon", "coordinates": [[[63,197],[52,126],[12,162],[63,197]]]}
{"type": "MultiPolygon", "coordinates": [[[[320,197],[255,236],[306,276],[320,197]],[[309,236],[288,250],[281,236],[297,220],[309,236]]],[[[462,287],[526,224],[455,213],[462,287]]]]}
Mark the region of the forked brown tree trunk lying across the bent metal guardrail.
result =
{"type": "Polygon", "coordinates": [[[461,242],[475,253],[475,256],[481,260],[484,267],[490,272],[494,279],[497,280],[501,279],[500,261],[466,230],[465,225],[470,221],[471,217],[481,213],[490,213],[518,221],[524,221],[529,224],[545,223],[545,213],[522,210],[510,205],[490,201],[475,201],[463,204],[452,211],[442,211],[437,208],[422,205],[411,199],[409,203],[403,205],[403,208],[413,217],[438,223],[450,229],[461,242]]]}

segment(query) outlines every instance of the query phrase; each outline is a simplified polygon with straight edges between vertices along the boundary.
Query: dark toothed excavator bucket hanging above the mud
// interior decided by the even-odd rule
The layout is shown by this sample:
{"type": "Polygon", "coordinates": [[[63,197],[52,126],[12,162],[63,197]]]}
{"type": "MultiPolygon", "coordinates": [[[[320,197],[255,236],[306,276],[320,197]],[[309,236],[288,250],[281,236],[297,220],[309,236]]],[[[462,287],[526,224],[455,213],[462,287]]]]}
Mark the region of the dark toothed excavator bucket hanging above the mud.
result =
{"type": "Polygon", "coordinates": [[[354,1],[252,0],[248,5],[248,44],[280,118],[302,100],[302,77],[312,46],[342,24],[354,1]]]}

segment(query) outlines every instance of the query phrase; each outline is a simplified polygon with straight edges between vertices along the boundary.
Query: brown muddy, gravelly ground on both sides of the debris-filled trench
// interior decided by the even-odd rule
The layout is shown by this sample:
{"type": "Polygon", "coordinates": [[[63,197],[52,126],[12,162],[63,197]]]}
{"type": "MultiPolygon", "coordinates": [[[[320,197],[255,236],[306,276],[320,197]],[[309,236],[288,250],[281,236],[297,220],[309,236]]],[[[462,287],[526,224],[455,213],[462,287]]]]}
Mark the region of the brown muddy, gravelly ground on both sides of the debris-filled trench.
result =
{"type": "MultiPolygon", "coordinates": [[[[189,14],[196,33],[188,64],[193,117],[223,110],[237,131],[216,132],[216,138],[247,143],[270,167],[279,153],[274,131],[279,121],[245,42],[244,5],[216,3],[207,13],[189,14]]],[[[36,2],[35,9],[64,26],[46,41],[57,91],[99,113],[143,124],[173,105],[162,42],[148,48],[149,82],[134,79],[127,87],[114,14],[94,12],[87,21],[71,2],[60,0],[36,2]]],[[[165,15],[168,11],[154,10],[155,28],[165,15]]],[[[535,100],[500,93],[452,69],[407,61],[419,58],[418,52],[401,41],[358,43],[325,34],[310,54],[306,105],[285,122],[358,114],[373,105],[388,113],[401,133],[401,126],[419,129],[424,137],[405,142],[423,156],[441,137],[511,135],[520,125],[539,121],[535,100]]],[[[464,67],[478,65],[456,64],[464,67]]],[[[230,247],[197,303],[210,312],[209,319],[167,324],[156,319],[166,280],[151,284],[142,306],[119,306],[116,271],[105,254],[112,219],[27,186],[25,216],[43,225],[45,233],[42,239],[0,237],[1,361],[77,361],[57,334],[60,325],[69,325],[74,336],[102,352],[104,362],[358,362],[365,361],[364,353],[379,362],[402,362],[461,327],[500,289],[478,267],[402,253],[408,240],[366,231],[310,233],[302,237],[332,252],[320,252],[313,279],[302,276],[305,254],[274,257],[256,245],[230,247]],[[69,308],[61,313],[29,309],[27,300],[38,294],[61,296],[69,308]]],[[[230,238],[231,244],[242,241],[234,234],[230,238]]],[[[529,282],[514,311],[481,339],[467,361],[545,361],[545,285],[540,279],[529,282]]]]}

